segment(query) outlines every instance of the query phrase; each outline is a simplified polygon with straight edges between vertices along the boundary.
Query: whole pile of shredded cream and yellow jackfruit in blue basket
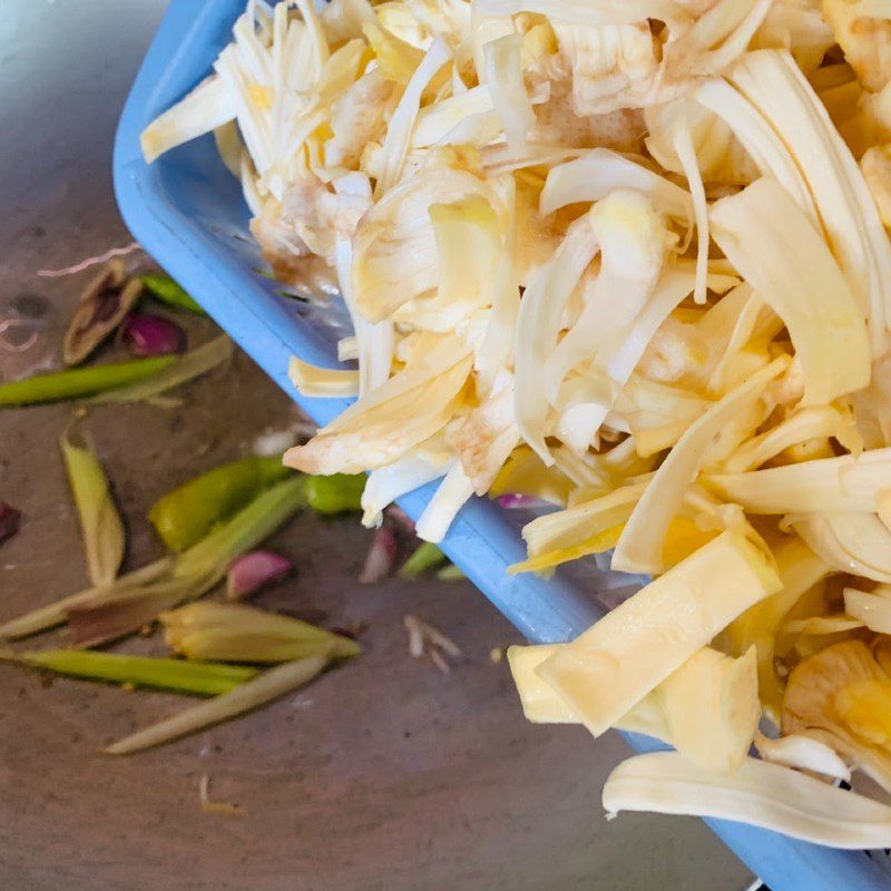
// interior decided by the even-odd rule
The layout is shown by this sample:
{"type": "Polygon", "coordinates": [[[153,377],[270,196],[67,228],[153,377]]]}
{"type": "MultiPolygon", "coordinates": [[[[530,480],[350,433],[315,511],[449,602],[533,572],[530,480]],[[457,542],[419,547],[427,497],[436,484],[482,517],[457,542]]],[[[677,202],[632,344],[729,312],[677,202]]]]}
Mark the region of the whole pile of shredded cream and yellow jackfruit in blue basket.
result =
{"type": "Polygon", "coordinates": [[[359,400],[285,462],[440,480],[546,572],[654,577],[515,647],[528,717],[676,752],[607,811],[891,846],[891,3],[252,0],[143,135],[213,131],[277,277],[339,293],[359,400]],[[760,730],[761,728],[761,730],[760,730]],[[763,731],[763,732],[762,732],[763,731]],[[753,744],[760,757],[750,752],[753,744]]]}

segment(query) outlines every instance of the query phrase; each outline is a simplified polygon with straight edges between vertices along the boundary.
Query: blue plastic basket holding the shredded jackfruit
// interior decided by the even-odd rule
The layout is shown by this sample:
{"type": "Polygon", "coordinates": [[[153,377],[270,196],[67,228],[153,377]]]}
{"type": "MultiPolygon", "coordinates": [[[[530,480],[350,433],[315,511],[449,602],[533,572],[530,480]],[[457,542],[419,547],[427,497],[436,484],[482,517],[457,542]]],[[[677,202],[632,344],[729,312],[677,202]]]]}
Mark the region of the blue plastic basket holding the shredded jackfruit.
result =
{"type": "MultiPolygon", "coordinates": [[[[248,210],[213,139],[183,146],[150,167],[139,150],[143,128],[210,70],[244,6],[244,0],[173,0],[120,119],[115,189],[134,237],[324,424],[347,403],[298,396],[287,379],[287,360],[296,354],[335,366],[335,335],[254,272],[262,261],[247,231],[248,210]]],[[[419,489],[400,503],[417,518],[433,489],[433,484],[419,489]]],[[[600,616],[587,586],[567,574],[558,572],[548,581],[507,575],[510,564],[525,558],[525,547],[503,511],[486,500],[464,507],[442,548],[530,640],[568,640],[600,616]]],[[[654,747],[645,737],[627,738],[636,750],[654,747]]],[[[591,819],[597,819],[596,812],[591,802],[591,819]]],[[[864,853],[832,851],[738,823],[708,823],[774,891],[891,891],[889,872],[864,853]]]]}

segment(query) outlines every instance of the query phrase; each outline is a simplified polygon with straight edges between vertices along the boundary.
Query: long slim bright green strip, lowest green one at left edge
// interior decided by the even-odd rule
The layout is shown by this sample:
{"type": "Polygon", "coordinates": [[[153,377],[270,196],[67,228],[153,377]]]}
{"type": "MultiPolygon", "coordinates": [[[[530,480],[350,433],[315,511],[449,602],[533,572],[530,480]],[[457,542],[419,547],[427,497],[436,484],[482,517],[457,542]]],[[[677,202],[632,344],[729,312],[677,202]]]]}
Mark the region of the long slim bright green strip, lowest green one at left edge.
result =
{"type": "Polygon", "coordinates": [[[246,665],[223,665],[212,662],[187,662],[120,653],[95,653],[85,649],[49,649],[7,654],[4,658],[58,675],[99,681],[108,684],[134,684],[198,696],[228,693],[256,677],[258,672],[246,665]]]}

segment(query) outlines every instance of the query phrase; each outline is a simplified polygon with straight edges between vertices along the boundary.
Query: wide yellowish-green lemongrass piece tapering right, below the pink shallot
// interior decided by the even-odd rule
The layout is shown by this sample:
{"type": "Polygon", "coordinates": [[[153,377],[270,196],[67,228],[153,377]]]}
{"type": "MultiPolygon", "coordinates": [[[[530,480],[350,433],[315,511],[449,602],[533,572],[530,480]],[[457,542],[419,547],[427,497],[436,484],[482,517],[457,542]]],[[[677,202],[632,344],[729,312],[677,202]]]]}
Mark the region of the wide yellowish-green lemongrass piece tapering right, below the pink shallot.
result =
{"type": "Polygon", "coordinates": [[[167,644],[189,659],[276,663],[320,653],[332,658],[361,653],[349,637],[242,604],[204,600],[161,613],[160,620],[167,644]]]}

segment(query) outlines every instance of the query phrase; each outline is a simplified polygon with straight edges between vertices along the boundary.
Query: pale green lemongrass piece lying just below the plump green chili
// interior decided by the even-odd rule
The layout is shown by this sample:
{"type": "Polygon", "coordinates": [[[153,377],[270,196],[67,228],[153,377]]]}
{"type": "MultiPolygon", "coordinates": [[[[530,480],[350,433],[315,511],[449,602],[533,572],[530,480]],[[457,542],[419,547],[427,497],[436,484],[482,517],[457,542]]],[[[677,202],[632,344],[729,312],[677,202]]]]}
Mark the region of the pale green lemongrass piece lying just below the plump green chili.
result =
{"type": "Polygon", "coordinates": [[[292,474],[261,492],[219,529],[179,555],[174,576],[197,577],[226,567],[306,506],[306,480],[292,474]]]}

